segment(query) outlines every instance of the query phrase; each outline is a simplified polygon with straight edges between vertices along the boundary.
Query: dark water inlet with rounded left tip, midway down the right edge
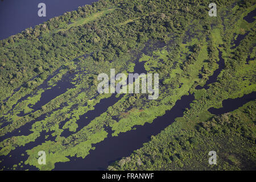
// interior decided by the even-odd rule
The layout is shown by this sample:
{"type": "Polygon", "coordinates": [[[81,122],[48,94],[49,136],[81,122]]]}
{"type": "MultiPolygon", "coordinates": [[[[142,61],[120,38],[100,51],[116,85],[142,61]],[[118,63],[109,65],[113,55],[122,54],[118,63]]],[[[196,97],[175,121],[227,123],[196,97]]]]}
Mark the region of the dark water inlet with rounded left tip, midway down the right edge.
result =
{"type": "Polygon", "coordinates": [[[253,101],[256,99],[256,92],[252,92],[250,94],[246,94],[243,97],[238,97],[238,98],[229,98],[227,100],[222,101],[222,106],[219,109],[216,109],[214,107],[211,107],[208,109],[208,111],[212,114],[224,114],[228,113],[230,111],[238,109],[238,107],[243,106],[249,101],[253,101]]]}

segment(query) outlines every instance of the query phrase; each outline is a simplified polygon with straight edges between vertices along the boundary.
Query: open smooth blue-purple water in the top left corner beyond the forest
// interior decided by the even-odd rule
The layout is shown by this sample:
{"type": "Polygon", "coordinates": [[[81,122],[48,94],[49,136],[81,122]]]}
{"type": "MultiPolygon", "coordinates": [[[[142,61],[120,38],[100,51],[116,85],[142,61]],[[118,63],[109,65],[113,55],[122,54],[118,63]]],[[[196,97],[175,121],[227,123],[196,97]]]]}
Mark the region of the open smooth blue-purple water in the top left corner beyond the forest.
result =
{"type": "Polygon", "coordinates": [[[77,7],[90,5],[97,0],[1,0],[0,1],[0,39],[17,34],[28,27],[46,22],[77,7]],[[46,17],[38,16],[38,4],[46,4],[46,17]]]}

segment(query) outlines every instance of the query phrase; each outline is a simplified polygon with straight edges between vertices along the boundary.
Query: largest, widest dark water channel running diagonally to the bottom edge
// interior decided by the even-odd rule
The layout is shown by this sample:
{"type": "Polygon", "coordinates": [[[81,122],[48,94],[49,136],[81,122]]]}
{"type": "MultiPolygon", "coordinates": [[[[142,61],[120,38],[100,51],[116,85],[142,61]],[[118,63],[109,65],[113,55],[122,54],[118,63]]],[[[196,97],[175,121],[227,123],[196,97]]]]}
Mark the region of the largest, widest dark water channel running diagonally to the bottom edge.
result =
{"type": "MultiPolygon", "coordinates": [[[[152,123],[143,126],[135,126],[136,130],[119,133],[118,137],[110,136],[100,143],[93,144],[95,150],[84,159],[69,157],[70,162],[56,163],[55,170],[102,170],[109,164],[123,156],[129,156],[131,152],[143,146],[150,140],[151,135],[160,133],[161,130],[171,125],[174,119],[182,117],[185,108],[194,100],[193,95],[182,96],[171,110],[166,111],[162,117],[154,119],[152,123]],[[76,160],[77,159],[77,160],[76,160]]],[[[109,129],[108,129],[109,130],[109,129]]]]}

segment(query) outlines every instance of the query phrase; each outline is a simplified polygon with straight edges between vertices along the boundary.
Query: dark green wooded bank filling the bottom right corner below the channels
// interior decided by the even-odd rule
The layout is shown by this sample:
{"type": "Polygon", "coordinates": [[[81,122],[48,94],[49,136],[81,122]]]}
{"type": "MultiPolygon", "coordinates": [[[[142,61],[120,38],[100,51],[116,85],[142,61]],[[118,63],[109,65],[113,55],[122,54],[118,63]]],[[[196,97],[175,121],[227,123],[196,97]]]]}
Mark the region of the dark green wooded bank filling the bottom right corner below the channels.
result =
{"type": "Polygon", "coordinates": [[[151,141],[109,166],[111,170],[255,169],[255,101],[232,113],[177,118],[151,141]],[[209,119],[210,118],[210,119],[209,119]],[[191,120],[193,119],[193,120],[191,120]],[[216,151],[217,165],[208,152],[216,151]]]}

